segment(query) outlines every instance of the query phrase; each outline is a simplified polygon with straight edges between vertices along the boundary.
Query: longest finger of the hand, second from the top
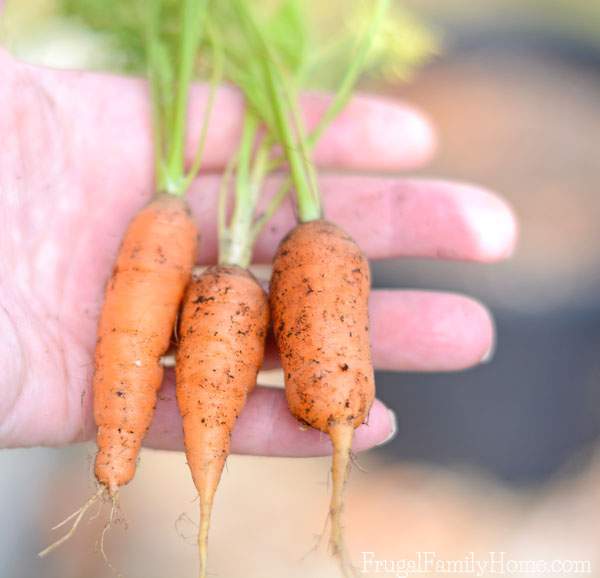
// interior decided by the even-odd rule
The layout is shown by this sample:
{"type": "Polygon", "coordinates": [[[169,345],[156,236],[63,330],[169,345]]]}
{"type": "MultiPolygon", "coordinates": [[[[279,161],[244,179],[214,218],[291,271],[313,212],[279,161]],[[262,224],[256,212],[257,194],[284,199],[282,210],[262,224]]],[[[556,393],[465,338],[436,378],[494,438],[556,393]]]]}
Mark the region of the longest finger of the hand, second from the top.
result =
{"type": "MultiPolygon", "coordinates": [[[[508,257],[516,240],[510,207],[484,189],[435,180],[323,175],[327,218],[342,226],[372,259],[420,257],[493,262],[508,257]]],[[[272,180],[265,193],[273,193],[272,180]]],[[[217,252],[218,179],[199,179],[190,204],[203,232],[201,261],[217,252]]],[[[291,199],[269,222],[255,248],[268,262],[296,222],[291,199]]]]}

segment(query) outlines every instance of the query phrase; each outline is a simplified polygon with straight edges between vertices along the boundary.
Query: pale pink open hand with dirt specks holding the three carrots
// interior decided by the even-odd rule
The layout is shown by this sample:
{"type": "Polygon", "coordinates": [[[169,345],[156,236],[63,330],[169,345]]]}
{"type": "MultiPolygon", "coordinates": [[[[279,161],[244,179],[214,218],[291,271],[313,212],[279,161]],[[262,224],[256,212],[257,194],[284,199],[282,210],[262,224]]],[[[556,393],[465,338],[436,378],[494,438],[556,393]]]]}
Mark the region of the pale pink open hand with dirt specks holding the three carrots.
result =
{"type": "MultiPolygon", "coordinates": [[[[4,52],[0,77],[0,445],[55,446],[95,433],[91,381],[103,289],[127,223],[152,196],[147,92],[136,79],[34,68],[4,52]]],[[[205,88],[194,90],[193,135],[206,96],[205,88]]],[[[305,98],[309,121],[325,102],[319,95],[305,98]]],[[[206,161],[220,172],[239,137],[239,95],[220,90],[215,111],[206,161]]],[[[316,151],[317,163],[329,171],[320,179],[328,217],[370,258],[493,262],[509,256],[514,218],[487,191],[339,174],[415,169],[430,157],[433,141],[427,122],[407,105],[355,98],[316,151]]],[[[203,234],[198,255],[203,263],[216,257],[217,184],[218,176],[200,179],[188,199],[203,234]]],[[[293,223],[286,206],[258,241],[260,260],[272,258],[293,223]]],[[[374,291],[370,317],[376,369],[463,369],[479,363],[493,345],[487,311],[458,295],[374,291]]],[[[376,401],[368,427],[356,430],[354,449],[384,441],[392,425],[376,401]]],[[[283,392],[257,387],[237,422],[231,449],[322,455],[331,452],[324,438],[298,428],[283,392]]],[[[145,443],[183,447],[170,373],[145,443]]]]}

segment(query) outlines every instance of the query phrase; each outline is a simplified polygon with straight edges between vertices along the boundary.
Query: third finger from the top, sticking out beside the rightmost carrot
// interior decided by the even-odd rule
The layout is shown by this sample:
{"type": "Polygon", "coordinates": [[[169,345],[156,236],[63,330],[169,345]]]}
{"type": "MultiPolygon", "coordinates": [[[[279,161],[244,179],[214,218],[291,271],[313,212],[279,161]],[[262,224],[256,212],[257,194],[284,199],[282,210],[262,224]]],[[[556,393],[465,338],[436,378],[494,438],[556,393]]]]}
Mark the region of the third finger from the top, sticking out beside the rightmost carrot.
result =
{"type": "MultiPolygon", "coordinates": [[[[459,371],[487,359],[494,325],[477,301],[451,293],[373,291],[369,301],[375,369],[459,371]]],[[[271,342],[265,367],[278,367],[271,342]]]]}

